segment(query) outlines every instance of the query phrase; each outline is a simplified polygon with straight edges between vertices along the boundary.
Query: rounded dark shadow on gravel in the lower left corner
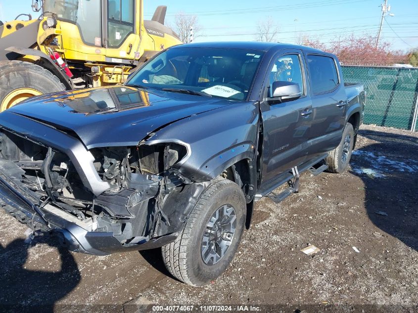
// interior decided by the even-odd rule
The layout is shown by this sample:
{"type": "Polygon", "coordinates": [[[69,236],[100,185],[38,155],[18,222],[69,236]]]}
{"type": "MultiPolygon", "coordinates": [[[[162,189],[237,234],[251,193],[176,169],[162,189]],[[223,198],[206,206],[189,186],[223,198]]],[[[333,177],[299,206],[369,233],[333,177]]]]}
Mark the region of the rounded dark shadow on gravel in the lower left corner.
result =
{"type": "Polygon", "coordinates": [[[45,271],[26,268],[28,249],[34,242],[15,239],[5,247],[0,245],[1,312],[53,312],[54,304],[78,285],[81,275],[71,253],[47,235],[36,240],[37,244],[58,250],[60,270],[48,271],[49,261],[55,264],[57,260],[45,256],[40,256],[45,260],[45,271]]]}

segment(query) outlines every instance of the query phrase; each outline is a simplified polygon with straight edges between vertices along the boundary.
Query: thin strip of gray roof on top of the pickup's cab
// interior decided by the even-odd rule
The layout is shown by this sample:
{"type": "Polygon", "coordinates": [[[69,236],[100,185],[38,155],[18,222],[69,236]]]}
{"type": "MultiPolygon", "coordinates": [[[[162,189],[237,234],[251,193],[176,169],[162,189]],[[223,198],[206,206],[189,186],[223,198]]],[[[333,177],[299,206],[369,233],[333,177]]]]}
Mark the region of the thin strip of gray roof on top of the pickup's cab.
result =
{"type": "MultiPolygon", "coordinates": [[[[301,49],[312,53],[326,53],[319,49],[314,49],[304,45],[291,45],[283,43],[262,43],[262,42],[203,42],[203,43],[192,43],[185,45],[177,45],[175,47],[195,47],[195,48],[235,48],[235,49],[252,49],[260,51],[268,51],[270,49],[281,50],[281,49],[301,49]]],[[[174,47],[173,47],[174,48],[174,47]]],[[[326,53],[329,54],[329,53],[326,53]]]]}

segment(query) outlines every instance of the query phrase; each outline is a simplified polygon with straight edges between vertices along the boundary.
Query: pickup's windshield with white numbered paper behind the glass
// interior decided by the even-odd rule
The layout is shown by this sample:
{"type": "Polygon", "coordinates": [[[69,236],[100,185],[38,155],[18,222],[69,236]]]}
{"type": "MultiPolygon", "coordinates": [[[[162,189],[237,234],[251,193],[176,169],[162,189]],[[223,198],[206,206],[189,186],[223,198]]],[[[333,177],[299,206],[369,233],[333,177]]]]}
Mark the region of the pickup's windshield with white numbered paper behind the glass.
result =
{"type": "Polygon", "coordinates": [[[146,63],[127,85],[243,100],[262,55],[245,49],[176,47],[146,63]]]}

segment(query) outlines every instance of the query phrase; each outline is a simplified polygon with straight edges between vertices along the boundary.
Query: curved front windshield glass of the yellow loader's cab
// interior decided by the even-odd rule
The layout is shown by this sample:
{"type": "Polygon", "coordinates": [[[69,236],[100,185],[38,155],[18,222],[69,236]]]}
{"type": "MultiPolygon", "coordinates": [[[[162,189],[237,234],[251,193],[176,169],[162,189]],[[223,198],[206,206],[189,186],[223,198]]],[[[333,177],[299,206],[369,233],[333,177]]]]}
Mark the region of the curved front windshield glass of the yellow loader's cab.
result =
{"type": "Polygon", "coordinates": [[[55,13],[59,20],[77,24],[86,44],[101,45],[101,1],[44,0],[43,11],[55,13]]]}

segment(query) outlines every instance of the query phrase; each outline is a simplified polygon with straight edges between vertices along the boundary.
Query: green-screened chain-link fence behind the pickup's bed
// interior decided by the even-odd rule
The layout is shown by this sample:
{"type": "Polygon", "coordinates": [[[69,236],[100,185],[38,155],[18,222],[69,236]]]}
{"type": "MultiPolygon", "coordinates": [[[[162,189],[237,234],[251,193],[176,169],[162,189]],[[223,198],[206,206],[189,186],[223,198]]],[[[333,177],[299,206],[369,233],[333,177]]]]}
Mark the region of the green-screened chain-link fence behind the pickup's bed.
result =
{"type": "Polygon", "coordinates": [[[365,124],[411,130],[418,99],[418,68],[342,66],[346,83],[367,92],[365,124]]]}

